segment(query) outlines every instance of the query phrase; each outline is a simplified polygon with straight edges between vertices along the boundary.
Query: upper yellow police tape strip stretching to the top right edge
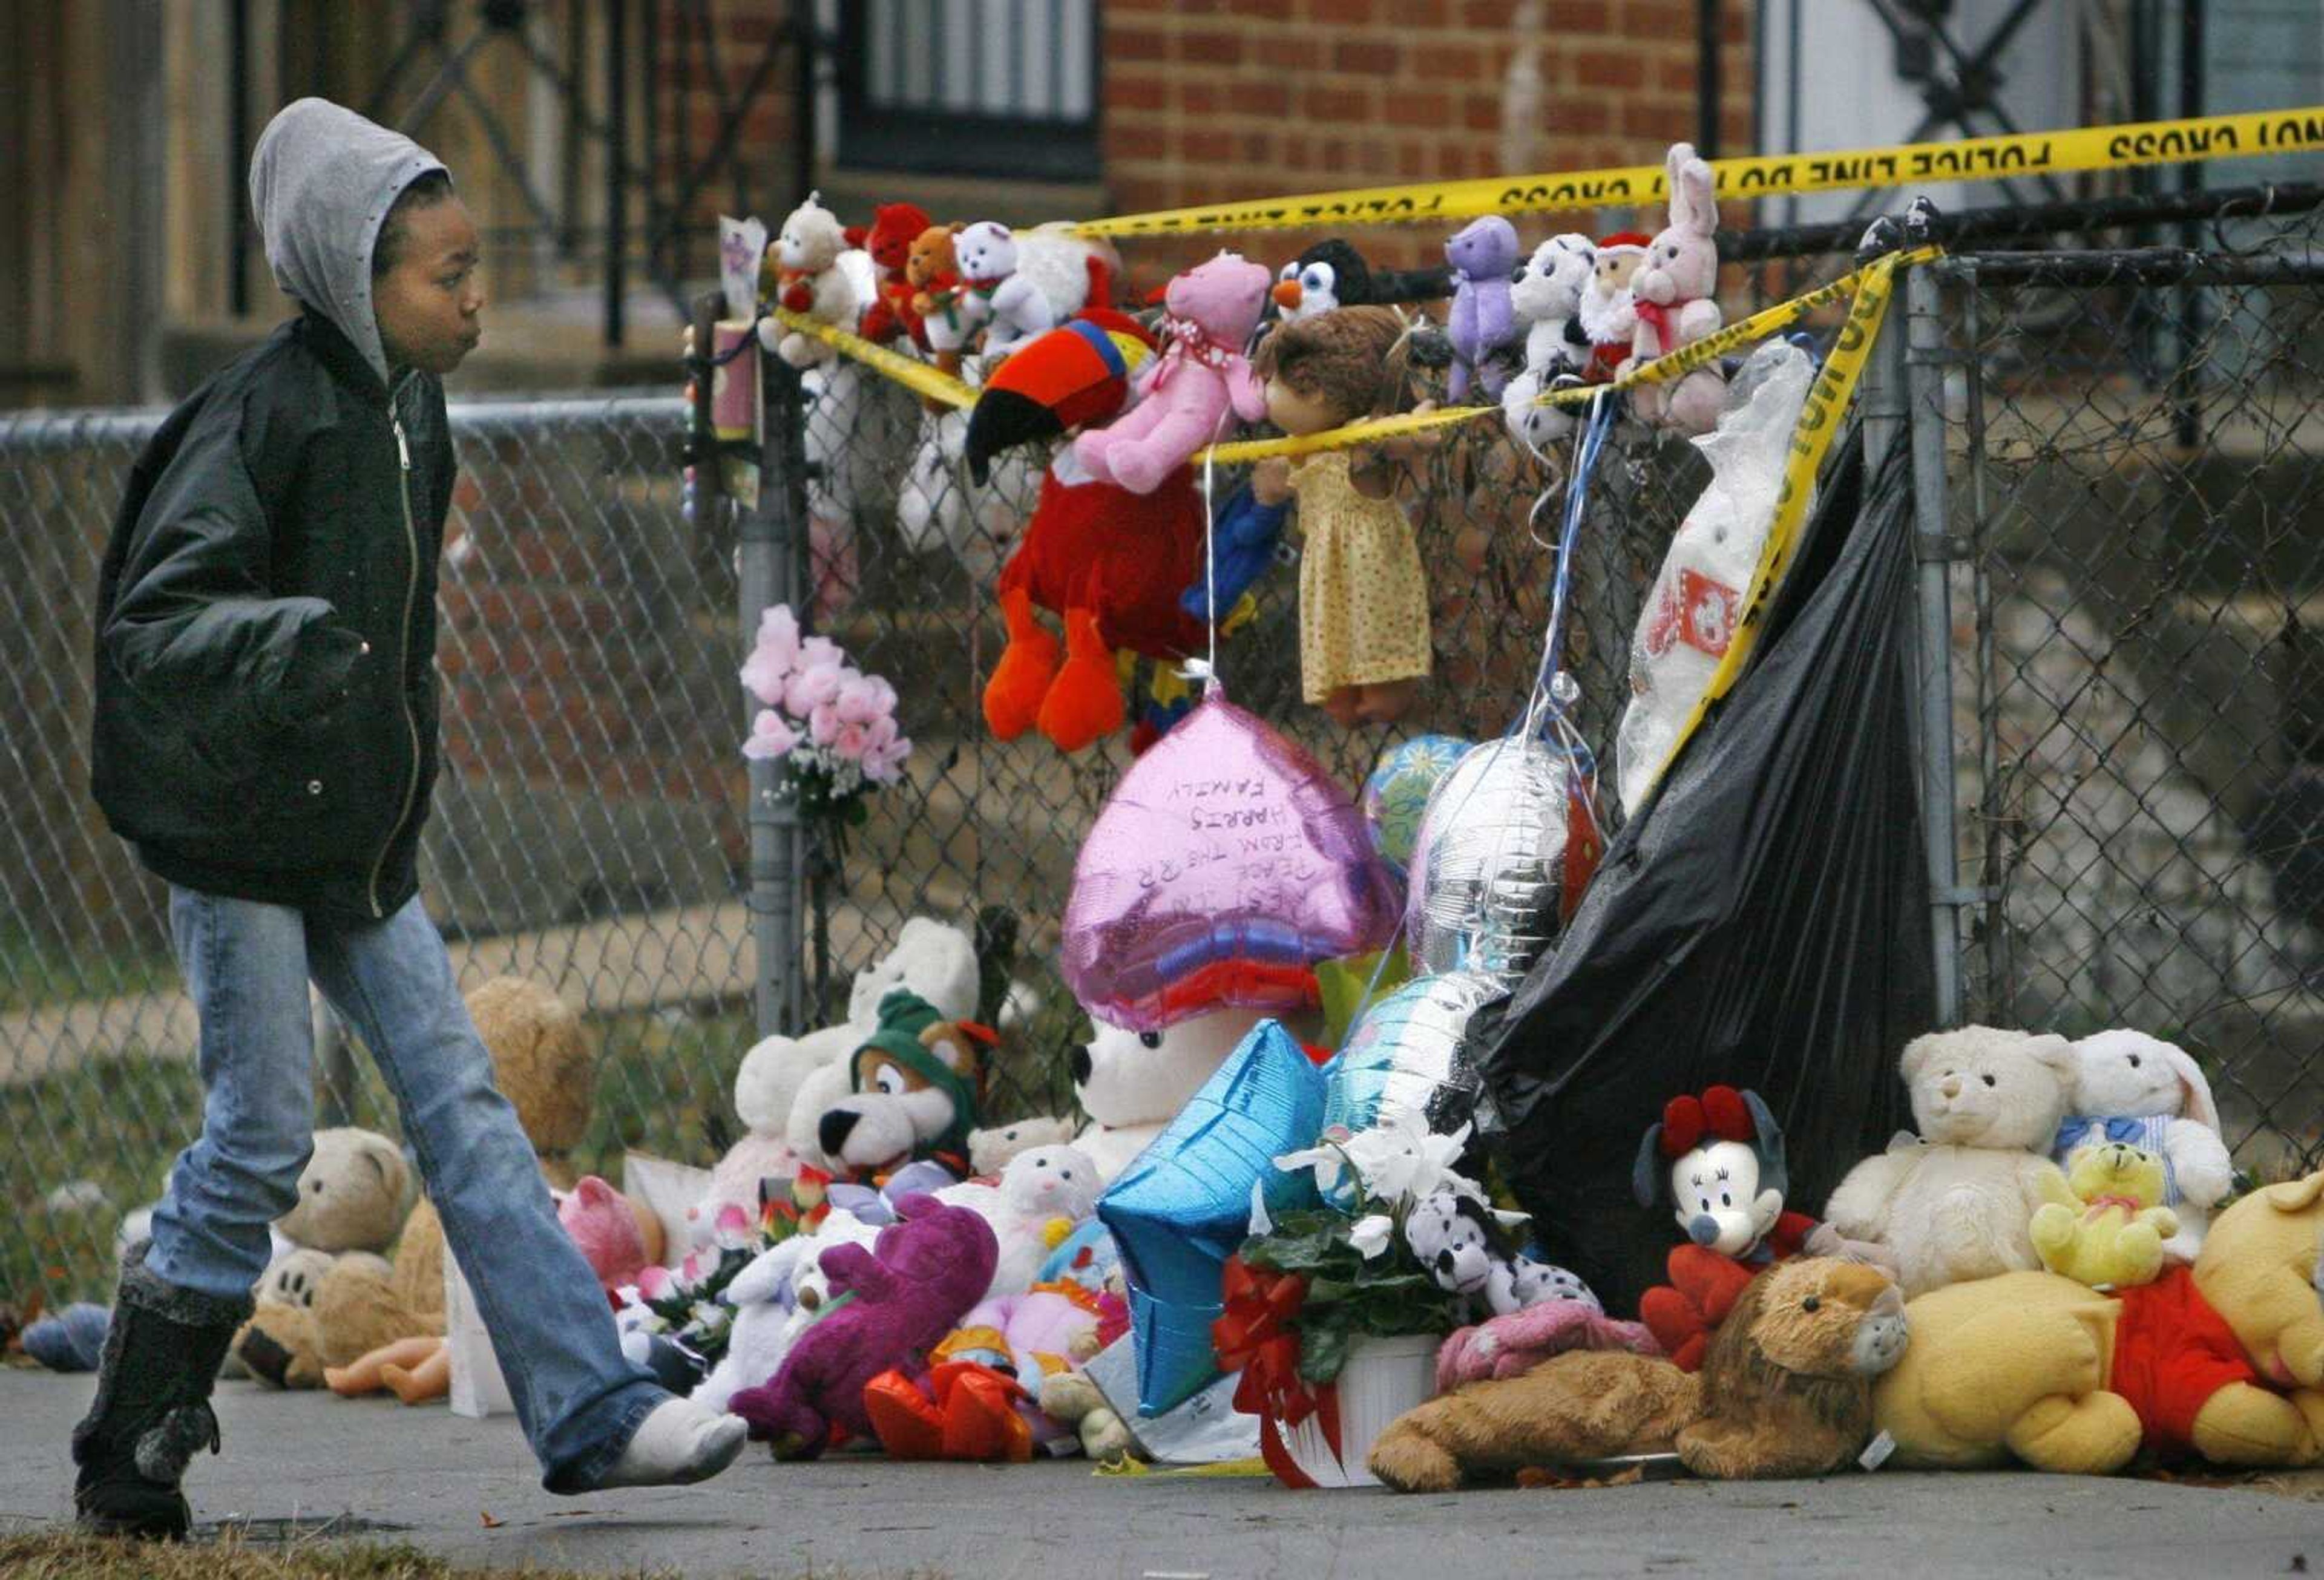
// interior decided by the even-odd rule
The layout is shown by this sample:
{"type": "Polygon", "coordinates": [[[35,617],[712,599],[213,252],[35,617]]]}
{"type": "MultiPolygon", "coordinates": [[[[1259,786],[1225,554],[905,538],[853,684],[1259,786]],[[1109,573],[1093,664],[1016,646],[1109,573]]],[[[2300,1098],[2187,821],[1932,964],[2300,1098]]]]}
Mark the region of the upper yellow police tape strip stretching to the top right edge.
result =
{"type": "MultiPolygon", "coordinates": [[[[1710,170],[1720,198],[1838,193],[1913,181],[1992,181],[2071,170],[2131,170],[2194,160],[2324,149],[2324,105],[2194,121],[2136,121],[1887,149],[1722,158],[1710,170]]],[[[1373,186],[1299,198],[1211,202],[1195,209],[1116,214],[1071,225],[1083,237],[1155,237],[1195,230],[1308,230],[1320,225],[1406,225],[1480,214],[1578,214],[1664,195],[1662,165],[1571,174],[1483,177],[1422,186],[1373,186]]]]}

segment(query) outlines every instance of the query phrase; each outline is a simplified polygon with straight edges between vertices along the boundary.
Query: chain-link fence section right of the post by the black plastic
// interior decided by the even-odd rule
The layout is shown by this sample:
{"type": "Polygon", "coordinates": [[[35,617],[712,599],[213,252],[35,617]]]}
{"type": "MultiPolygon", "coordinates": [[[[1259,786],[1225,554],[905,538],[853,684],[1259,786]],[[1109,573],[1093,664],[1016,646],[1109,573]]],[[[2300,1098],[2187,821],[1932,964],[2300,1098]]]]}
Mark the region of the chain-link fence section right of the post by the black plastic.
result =
{"type": "Polygon", "coordinates": [[[2291,207],[1957,253],[1913,300],[1961,1008],[2185,1043],[2261,1176],[2324,1159],[2324,214],[2291,207]]]}

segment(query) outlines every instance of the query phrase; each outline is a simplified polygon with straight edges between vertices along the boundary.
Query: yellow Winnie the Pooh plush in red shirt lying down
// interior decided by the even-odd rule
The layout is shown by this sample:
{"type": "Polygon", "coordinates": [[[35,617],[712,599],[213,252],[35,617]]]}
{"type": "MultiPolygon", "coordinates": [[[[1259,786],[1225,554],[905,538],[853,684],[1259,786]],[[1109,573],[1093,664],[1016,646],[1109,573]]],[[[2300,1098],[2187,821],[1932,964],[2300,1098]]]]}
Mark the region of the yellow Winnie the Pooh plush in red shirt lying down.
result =
{"type": "Polygon", "coordinates": [[[1913,1352],[1873,1394],[1908,1466],[2106,1475],[2140,1450],[2324,1459],[2324,1173],[2226,1208],[2194,1269],[2099,1294],[2003,1273],[1915,1299],[1913,1352]]]}

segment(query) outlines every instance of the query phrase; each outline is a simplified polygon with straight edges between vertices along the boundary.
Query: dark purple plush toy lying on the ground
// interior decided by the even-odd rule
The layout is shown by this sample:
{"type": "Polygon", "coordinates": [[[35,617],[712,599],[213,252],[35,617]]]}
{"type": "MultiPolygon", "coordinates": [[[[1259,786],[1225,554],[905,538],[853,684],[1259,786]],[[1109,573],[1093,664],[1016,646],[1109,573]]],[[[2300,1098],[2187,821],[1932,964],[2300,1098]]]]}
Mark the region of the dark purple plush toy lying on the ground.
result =
{"type": "Polygon", "coordinates": [[[999,1241],[983,1218],[934,1197],[904,1197],[895,1211],[899,1222],[881,1229],[871,1250],[823,1252],[830,1315],[799,1334],[772,1382],[727,1401],[776,1459],[816,1459],[832,1427],[871,1441],[865,1385],[892,1366],[918,1364],[985,1299],[999,1241]]]}

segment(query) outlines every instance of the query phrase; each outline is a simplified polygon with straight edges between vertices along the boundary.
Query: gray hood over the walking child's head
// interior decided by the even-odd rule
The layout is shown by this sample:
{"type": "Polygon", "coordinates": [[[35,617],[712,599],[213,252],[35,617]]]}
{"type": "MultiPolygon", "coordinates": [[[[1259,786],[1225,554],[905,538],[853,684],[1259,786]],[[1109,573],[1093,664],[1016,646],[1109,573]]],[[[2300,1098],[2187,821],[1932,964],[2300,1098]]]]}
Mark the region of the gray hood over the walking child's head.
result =
{"type": "Polygon", "coordinates": [[[397,193],[430,170],[444,163],[402,132],[316,98],[286,105],[251,153],[251,211],[274,281],[339,325],[381,383],[372,244],[397,193]]]}

